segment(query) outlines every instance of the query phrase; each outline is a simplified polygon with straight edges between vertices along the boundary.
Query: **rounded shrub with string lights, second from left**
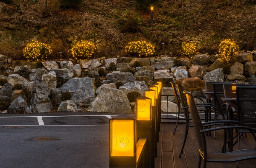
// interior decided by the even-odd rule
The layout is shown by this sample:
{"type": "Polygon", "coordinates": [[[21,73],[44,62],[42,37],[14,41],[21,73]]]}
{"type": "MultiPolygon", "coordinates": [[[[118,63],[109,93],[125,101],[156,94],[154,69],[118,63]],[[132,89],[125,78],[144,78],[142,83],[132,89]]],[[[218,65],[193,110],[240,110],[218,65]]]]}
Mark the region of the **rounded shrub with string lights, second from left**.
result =
{"type": "Polygon", "coordinates": [[[72,56],[76,60],[90,59],[95,53],[96,47],[93,42],[81,40],[73,45],[72,56]]]}

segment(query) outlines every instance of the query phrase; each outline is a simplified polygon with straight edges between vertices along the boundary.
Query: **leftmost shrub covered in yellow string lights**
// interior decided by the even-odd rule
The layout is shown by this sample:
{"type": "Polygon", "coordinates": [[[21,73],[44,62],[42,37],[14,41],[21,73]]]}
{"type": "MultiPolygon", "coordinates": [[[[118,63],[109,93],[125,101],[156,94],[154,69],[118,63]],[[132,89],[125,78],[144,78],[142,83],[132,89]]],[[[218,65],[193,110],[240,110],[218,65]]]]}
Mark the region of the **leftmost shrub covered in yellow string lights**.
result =
{"type": "Polygon", "coordinates": [[[52,50],[48,44],[34,40],[23,48],[23,56],[29,62],[45,61],[51,53],[52,50]]]}

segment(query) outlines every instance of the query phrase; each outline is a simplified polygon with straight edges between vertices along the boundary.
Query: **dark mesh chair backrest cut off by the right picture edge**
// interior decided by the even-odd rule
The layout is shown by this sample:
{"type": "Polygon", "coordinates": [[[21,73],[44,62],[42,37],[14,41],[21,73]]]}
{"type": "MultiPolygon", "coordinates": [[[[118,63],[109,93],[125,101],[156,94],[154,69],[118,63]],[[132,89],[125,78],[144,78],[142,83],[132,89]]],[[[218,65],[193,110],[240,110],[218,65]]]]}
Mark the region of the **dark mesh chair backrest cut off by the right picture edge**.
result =
{"type": "Polygon", "coordinates": [[[256,129],[256,85],[236,87],[239,121],[256,129]]]}

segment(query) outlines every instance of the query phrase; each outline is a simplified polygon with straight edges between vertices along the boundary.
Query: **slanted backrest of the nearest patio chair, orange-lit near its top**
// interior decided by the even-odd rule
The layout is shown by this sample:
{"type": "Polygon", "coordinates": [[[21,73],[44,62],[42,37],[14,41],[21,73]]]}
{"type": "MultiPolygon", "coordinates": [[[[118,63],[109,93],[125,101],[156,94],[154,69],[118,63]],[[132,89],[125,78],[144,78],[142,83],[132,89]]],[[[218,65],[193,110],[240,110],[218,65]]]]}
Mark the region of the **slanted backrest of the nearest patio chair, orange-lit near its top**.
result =
{"type": "MultiPolygon", "coordinates": [[[[207,153],[205,135],[204,135],[204,133],[200,132],[204,128],[202,125],[200,115],[198,113],[198,109],[195,104],[194,97],[191,92],[184,91],[183,93],[186,93],[186,98],[187,98],[187,102],[189,104],[189,109],[190,109],[190,114],[191,114],[194,130],[195,130],[195,134],[197,136],[199,147],[200,147],[200,149],[199,149],[200,154],[205,155],[207,153]]],[[[202,157],[204,158],[204,156],[202,156],[202,157]]]]}

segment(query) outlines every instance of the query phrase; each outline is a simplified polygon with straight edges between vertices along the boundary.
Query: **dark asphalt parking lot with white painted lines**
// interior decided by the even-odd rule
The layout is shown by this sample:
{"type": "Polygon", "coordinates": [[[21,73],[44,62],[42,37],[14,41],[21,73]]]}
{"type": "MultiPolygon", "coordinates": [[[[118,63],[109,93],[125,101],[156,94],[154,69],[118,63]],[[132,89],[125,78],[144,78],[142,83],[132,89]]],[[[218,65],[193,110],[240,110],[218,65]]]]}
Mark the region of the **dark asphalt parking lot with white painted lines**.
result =
{"type": "Polygon", "coordinates": [[[1,168],[107,168],[105,113],[0,115],[1,168]]]}

